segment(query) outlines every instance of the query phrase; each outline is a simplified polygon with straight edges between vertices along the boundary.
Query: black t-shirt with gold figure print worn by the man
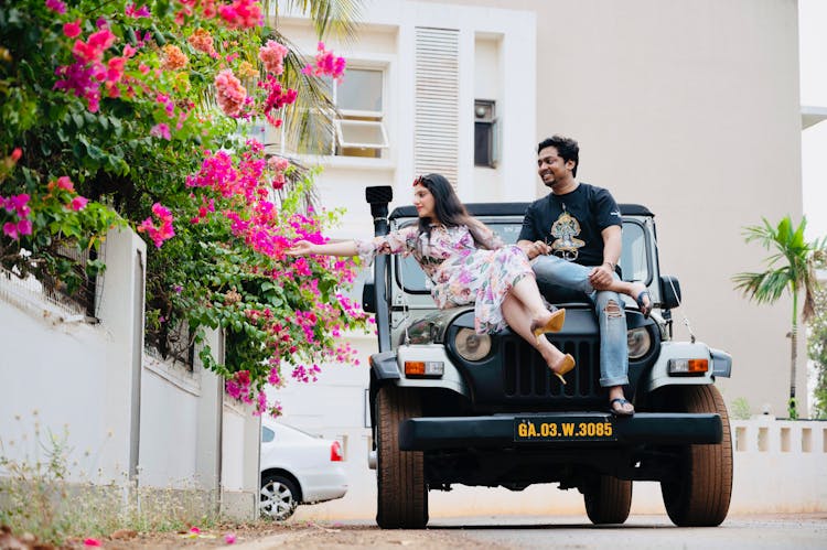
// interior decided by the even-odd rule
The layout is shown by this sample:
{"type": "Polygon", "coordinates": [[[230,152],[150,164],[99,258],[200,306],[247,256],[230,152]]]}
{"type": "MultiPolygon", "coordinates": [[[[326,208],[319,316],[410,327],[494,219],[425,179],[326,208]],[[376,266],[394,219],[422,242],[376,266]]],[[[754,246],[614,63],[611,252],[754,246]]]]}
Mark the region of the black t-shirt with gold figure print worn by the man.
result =
{"type": "Polygon", "coordinates": [[[548,196],[528,206],[519,240],[544,240],[554,254],[582,266],[603,263],[601,231],[623,226],[614,197],[603,187],[581,183],[565,195],[548,196]]]}

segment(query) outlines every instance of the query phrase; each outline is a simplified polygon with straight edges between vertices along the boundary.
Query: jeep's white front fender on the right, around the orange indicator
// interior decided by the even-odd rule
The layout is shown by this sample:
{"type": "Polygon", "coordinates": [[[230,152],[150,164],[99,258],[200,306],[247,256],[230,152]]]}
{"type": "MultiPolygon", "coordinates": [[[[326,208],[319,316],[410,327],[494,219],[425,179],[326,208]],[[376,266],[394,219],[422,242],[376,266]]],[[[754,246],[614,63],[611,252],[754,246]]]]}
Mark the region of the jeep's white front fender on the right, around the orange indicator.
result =
{"type": "Polygon", "coordinates": [[[732,357],[713,349],[702,342],[664,342],[660,354],[652,366],[646,380],[641,380],[644,391],[651,392],[663,386],[697,386],[715,384],[717,376],[729,377],[732,357]],[[669,375],[669,359],[707,359],[709,369],[702,375],[669,375]]]}

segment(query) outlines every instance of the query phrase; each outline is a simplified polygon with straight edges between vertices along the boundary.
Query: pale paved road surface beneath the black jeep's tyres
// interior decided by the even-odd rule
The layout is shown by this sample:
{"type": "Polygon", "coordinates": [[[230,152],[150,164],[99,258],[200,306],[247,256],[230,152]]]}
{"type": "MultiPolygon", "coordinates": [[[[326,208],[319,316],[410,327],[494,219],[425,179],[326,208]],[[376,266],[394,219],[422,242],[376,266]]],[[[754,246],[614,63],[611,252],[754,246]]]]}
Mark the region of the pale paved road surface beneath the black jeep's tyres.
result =
{"type": "Polygon", "coordinates": [[[632,516],[623,526],[597,527],[588,518],[434,518],[425,530],[383,531],[373,521],[311,522],[250,540],[236,550],[375,549],[578,550],[827,550],[827,514],[733,516],[717,528],[678,528],[666,516],[632,516]]]}

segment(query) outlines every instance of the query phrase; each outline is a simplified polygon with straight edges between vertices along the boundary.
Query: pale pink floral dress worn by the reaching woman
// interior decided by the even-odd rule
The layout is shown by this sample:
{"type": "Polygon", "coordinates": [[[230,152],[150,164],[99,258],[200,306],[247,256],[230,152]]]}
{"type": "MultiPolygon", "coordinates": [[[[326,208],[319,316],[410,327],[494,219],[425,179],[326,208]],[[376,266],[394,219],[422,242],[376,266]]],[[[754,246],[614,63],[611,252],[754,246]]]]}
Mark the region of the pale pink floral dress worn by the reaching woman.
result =
{"type": "Polygon", "coordinates": [[[356,240],[359,258],[370,262],[377,254],[412,254],[433,283],[431,295],[441,310],[474,304],[479,334],[505,328],[502,304],[517,281],[534,276],[525,252],[505,246],[487,227],[480,231],[477,248],[469,228],[431,226],[430,240],[416,226],[405,227],[372,240],[356,240]]]}

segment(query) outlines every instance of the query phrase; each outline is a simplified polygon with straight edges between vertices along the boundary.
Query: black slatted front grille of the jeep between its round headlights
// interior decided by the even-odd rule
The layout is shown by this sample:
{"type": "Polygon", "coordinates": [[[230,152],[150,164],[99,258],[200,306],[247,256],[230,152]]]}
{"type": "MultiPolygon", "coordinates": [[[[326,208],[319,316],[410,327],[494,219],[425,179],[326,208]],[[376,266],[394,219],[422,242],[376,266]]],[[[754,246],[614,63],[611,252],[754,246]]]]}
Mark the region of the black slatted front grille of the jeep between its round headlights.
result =
{"type": "Polygon", "coordinates": [[[577,362],[566,375],[563,386],[551,374],[543,357],[522,338],[504,338],[502,347],[503,388],[511,401],[533,401],[544,398],[597,398],[600,387],[600,345],[593,337],[566,336],[551,339],[562,353],[577,362]]]}

